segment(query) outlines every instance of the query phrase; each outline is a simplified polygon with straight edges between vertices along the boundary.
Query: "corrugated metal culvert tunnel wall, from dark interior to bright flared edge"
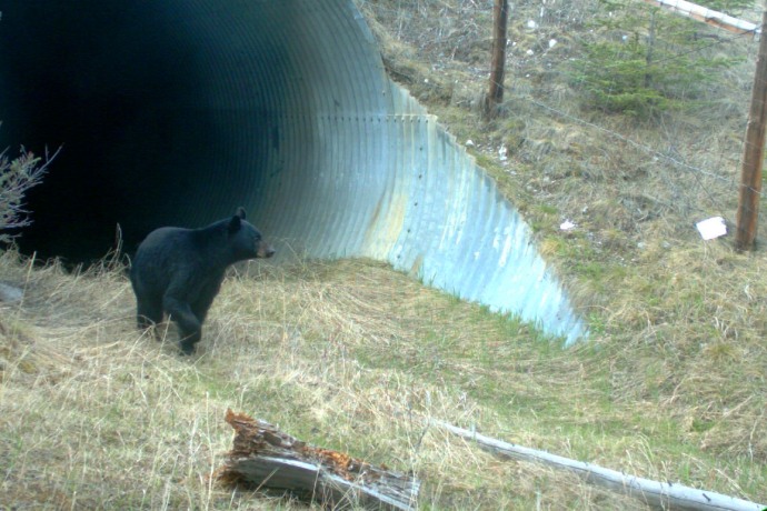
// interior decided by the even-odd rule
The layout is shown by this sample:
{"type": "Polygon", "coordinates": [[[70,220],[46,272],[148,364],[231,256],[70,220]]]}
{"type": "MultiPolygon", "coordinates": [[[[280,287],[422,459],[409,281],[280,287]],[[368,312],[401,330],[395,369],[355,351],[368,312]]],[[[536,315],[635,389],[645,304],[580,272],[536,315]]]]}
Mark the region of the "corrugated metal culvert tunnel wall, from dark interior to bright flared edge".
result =
{"type": "Polygon", "coordinates": [[[0,38],[23,50],[0,56],[0,136],[31,143],[51,116],[34,87],[66,88],[82,126],[61,141],[102,148],[101,173],[82,182],[118,190],[109,203],[129,236],[242,203],[283,252],[386,260],[568,342],[584,334],[518,212],[387,78],[351,0],[16,3],[0,38]]]}

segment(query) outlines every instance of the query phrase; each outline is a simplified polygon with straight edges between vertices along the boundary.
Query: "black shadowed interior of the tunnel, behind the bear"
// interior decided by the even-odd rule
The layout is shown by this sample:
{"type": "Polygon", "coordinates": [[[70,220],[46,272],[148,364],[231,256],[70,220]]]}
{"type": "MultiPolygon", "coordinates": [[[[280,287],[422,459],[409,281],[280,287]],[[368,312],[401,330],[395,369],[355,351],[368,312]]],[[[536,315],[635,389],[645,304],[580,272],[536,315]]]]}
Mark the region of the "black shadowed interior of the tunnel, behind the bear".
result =
{"type": "MultiPolygon", "coordinates": [[[[60,148],[28,192],[23,253],[92,261],[114,247],[118,224],[130,252],[151,229],[188,223],[189,204],[206,204],[195,220],[207,223],[246,200],[237,173],[226,189],[211,186],[226,171],[226,137],[220,111],[206,106],[205,37],[189,37],[172,8],[149,3],[3,7],[0,148],[9,158],[22,144],[38,156],[60,148]]],[[[250,133],[261,138],[252,119],[250,133]]],[[[259,172],[257,158],[249,171],[259,172]]]]}

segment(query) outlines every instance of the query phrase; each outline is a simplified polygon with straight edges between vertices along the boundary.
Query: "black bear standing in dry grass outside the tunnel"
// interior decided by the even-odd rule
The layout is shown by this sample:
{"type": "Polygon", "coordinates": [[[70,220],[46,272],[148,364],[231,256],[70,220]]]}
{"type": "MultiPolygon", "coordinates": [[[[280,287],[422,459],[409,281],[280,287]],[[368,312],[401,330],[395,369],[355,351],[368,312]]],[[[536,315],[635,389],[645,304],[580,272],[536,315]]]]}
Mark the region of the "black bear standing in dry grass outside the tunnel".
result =
{"type": "Polygon", "coordinates": [[[242,208],[202,229],[163,227],[150,232],[130,269],[139,328],[168,314],[179,328],[181,351],[191,354],[227,268],[273,254],[258,229],[245,221],[242,208]]]}

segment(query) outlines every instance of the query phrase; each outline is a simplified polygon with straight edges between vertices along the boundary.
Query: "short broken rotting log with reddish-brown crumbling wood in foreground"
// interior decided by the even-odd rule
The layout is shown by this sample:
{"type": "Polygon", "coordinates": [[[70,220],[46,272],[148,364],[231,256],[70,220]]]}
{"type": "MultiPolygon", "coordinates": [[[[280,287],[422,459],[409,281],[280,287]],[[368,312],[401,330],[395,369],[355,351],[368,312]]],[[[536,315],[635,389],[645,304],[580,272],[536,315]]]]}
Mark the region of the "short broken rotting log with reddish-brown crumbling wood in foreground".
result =
{"type": "Polygon", "coordinates": [[[225,484],[286,491],[333,509],[410,510],[416,504],[420,483],[411,475],[309,445],[243,413],[227,410],[226,421],[235,440],[217,471],[225,484]]]}

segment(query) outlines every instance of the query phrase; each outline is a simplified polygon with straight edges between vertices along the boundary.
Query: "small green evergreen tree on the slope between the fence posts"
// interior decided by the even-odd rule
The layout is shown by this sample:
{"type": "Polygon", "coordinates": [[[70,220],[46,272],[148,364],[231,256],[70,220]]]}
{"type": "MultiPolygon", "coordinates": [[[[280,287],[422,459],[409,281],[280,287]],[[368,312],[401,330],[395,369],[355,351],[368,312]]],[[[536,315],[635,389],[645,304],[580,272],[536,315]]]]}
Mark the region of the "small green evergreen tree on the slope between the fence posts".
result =
{"type": "Polygon", "coordinates": [[[708,28],[698,21],[631,0],[599,3],[594,38],[572,62],[588,108],[643,119],[690,108],[709,97],[716,72],[735,63],[715,56],[717,40],[701,37],[708,28]]]}

